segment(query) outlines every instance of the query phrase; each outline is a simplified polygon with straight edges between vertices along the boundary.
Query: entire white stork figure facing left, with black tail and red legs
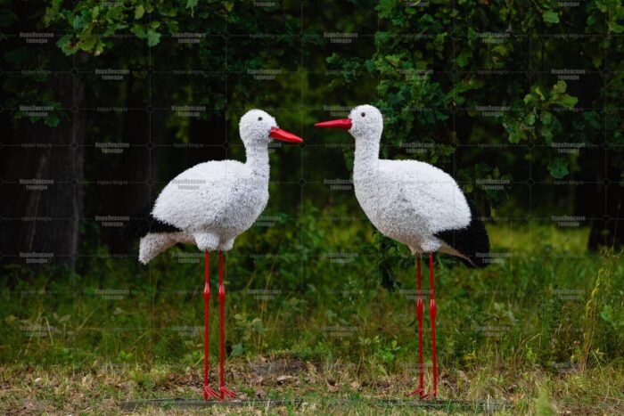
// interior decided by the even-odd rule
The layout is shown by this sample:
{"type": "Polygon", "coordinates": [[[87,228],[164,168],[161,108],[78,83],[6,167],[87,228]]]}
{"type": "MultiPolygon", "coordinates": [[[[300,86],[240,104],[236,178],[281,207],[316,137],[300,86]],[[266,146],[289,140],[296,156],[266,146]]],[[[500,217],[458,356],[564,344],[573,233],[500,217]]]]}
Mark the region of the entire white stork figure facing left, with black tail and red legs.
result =
{"type": "Polygon", "coordinates": [[[348,129],[356,139],[353,185],[371,223],[383,235],[402,242],[416,257],[416,315],[418,318],[419,386],[408,396],[438,395],[436,362],[436,304],[433,292],[433,253],[459,257],[466,265],[487,265],[489,238],[475,217],[456,181],[438,167],[418,160],[379,159],[382,113],[371,105],[360,105],[349,118],[316,123],[317,127],[348,129]],[[429,255],[431,362],[433,389],[424,392],[423,380],[423,290],[420,256],[429,255]]]}

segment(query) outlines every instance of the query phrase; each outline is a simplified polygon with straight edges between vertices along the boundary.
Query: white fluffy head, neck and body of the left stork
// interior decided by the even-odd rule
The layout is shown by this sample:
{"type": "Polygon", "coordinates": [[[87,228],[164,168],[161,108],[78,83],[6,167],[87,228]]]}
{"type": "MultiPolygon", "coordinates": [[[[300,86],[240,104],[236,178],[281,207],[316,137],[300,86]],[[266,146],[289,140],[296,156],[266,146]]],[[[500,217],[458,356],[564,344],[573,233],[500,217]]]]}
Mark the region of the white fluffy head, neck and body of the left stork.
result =
{"type": "Polygon", "coordinates": [[[200,163],[169,182],[160,192],[152,216],[182,232],[144,236],[139,250],[142,263],[177,242],[194,243],[201,251],[232,249],[234,239],[248,230],[267,206],[268,135],[274,126],[275,118],[265,111],[248,111],[239,123],[245,163],[200,163]]]}

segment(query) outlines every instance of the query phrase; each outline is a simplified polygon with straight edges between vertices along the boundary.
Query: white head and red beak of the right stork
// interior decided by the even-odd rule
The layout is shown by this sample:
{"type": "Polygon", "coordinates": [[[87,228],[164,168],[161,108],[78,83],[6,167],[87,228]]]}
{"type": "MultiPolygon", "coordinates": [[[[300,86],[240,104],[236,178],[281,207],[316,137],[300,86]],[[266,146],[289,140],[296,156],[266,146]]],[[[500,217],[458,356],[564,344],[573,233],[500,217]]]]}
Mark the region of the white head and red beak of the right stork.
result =
{"type": "Polygon", "coordinates": [[[356,141],[379,141],[382,138],[383,116],[382,112],[372,105],[358,105],[351,110],[349,118],[323,121],[316,123],[315,126],[348,129],[356,141]]]}

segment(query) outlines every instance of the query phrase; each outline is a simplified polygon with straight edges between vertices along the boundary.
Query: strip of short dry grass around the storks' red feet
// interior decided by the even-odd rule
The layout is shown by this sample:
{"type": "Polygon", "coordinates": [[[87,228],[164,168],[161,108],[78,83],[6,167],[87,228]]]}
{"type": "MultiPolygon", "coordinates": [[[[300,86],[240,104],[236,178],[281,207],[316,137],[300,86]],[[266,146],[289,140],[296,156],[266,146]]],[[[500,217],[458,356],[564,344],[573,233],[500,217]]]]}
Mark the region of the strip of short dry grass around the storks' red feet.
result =
{"type": "MultiPolygon", "coordinates": [[[[247,403],[211,402],[209,407],[175,404],[123,406],[154,398],[201,398],[201,365],[93,363],[89,368],[4,366],[0,411],[49,413],[357,413],[495,412],[498,414],[621,414],[624,371],[608,365],[583,372],[509,368],[489,363],[471,371],[442,368],[439,401],[406,398],[410,374],[372,376],[355,363],[311,363],[265,357],[228,363],[229,387],[247,403]],[[269,399],[285,400],[271,404],[269,399]],[[269,402],[267,404],[267,402],[269,402]]],[[[212,379],[217,380],[213,371],[212,379]]],[[[213,387],[216,383],[213,382],[213,387]]],[[[200,404],[201,405],[201,404],[200,404]]]]}

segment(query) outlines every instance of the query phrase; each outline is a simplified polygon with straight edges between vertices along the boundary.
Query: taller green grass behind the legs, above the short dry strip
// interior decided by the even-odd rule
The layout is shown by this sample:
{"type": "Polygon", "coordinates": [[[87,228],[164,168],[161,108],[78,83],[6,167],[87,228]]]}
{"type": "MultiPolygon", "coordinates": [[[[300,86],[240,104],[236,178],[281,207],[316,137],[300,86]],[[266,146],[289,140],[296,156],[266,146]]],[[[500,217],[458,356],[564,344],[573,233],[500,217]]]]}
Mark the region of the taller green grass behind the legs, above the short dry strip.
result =
{"type": "MultiPolygon", "coordinates": [[[[411,363],[417,348],[415,300],[410,296],[415,290],[414,258],[400,246],[386,250],[384,261],[397,290],[382,290],[376,274],[379,257],[371,255],[380,241],[370,226],[330,226],[331,218],[310,210],[302,224],[313,222],[314,227],[284,222],[270,227],[261,239],[255,236],[258,232],[249,232],[226,256],[227,355],[288,351],[312,361],[342,357],[364,360],[379,374],[411,363]],[[287,249],[297,247],[299,232],[310,241],[303,257],[291,256],[287,249]],[[259,241],[282,255],[253,256],[262,249],[259,241]],[[324,255],[337,252],[362,254],[324,255]]],[[[471,369],[497,354],[521,366],[559,371],[581,363],[583,351],[588,367],[621,359],[620,257],[565,257],[583,249],[587,232],[582,230],[571,236],[531,224],[513,236],[504,227],[490,227],[489,232],[495,251],[508,256],[483,272],[437,257],[440,363],[471,369]],[[598,269],[594,282],[590,276],[598,269]]],[[[135,265],[132,258],[113,261],[105,250],[99,257],[85,257],[76,274],[12,268],[0,286],[6,328],[0,360],[197,365],[203,265],[200,256],[190,256],[193,249],[186,255],[185,250],[174,249],[149,268],[135,265]]],[[[212,310],[217,306],[214,299],[212,310]]],[[[210,316],[211,351],[216,354],[218,314],[210,316]]],[[[424,340],[427,348],[429,339],[424,340]]]]}

